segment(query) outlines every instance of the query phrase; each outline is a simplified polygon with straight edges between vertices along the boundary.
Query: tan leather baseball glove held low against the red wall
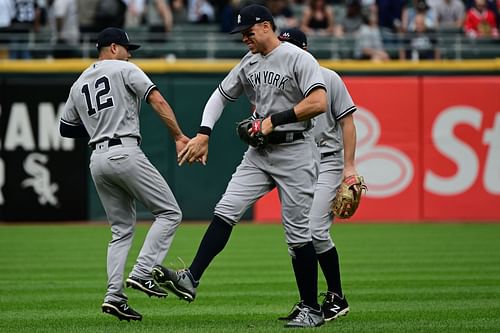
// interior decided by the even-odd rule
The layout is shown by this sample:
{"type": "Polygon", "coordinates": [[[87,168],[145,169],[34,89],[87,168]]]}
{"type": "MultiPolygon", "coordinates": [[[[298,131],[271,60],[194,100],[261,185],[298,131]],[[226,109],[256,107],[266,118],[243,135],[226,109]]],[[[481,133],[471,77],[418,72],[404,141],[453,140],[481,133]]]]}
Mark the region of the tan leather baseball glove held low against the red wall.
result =
{"type": "Polygon", "coordinates": [[[353,216],[358,209],[363,191],[367,189],[362,176],[352,175],[345,178],[333,199],[331,206],[333,214],[339,219],[353,216]]]}

